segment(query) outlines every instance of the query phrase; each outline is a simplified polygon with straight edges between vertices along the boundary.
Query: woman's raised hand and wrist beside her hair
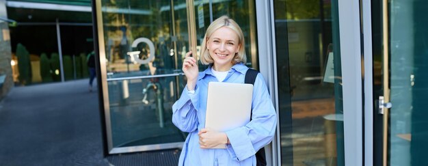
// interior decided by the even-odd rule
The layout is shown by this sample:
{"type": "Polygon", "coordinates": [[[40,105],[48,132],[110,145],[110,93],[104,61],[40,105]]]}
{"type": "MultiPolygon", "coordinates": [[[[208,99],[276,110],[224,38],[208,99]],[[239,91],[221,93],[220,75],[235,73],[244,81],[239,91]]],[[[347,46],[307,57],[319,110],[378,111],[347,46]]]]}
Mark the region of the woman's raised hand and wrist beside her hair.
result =
{"type": "Polygon", "coordinates": [[[187,52],[185,59],[183,60],[183,72],[187,77],[187,89],[194,90],[198,79],[199,68],[198,63],[196,63],[196,59],[190,55],[191,51],[187,52]]]}

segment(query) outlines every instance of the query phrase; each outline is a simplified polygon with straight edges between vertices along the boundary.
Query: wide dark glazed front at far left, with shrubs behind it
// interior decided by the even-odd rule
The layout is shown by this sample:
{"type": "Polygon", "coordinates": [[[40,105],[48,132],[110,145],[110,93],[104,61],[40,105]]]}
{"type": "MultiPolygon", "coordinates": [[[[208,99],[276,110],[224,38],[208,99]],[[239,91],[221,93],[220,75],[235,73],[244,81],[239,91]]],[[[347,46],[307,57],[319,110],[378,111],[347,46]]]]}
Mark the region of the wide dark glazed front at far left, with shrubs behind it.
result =
{"type": "MultiPolygon", "coordinates": [[[[90,1],[85,4],[90,6],[90,1]]],[[[94,49],[91,12],[24,7],[7,10],[8,18],[18,23],[9,27],[16,85],[59,82],[63,72],[65,81],[88,77],[85,58],[94,49]],[[56,19],[59,21],[63,72],[59,67],[56,19]],[[83,60],[79,61],[81,54],[83,60]]]]}

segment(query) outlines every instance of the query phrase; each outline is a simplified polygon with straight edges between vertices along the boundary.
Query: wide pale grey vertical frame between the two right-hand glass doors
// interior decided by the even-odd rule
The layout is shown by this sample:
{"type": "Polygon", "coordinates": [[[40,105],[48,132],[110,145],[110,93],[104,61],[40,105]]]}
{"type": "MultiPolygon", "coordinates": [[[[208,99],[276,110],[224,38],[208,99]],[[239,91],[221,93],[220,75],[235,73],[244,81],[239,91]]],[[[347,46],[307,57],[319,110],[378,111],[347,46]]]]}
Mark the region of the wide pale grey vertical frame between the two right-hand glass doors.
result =
{"type": "Polygon", "coordinates": [[[342,77],[345,165],[363,165],[360,1],[339,0],[338,10],[342,76],[349,76],[342,77]]]}

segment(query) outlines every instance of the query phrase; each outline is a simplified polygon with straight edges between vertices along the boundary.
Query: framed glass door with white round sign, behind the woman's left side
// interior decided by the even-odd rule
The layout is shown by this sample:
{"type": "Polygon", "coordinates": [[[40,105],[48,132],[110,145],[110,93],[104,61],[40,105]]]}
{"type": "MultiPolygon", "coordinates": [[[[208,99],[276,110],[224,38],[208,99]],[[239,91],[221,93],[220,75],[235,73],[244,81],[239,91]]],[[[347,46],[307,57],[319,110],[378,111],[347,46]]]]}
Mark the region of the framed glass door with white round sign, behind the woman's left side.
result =
{"type": "MultiPolygon", "coordinates": [[[[185,87],[182,59],[206,27],[229,15],[245,31],[248,66],[257,66],[254,1],[96,1],[101,89],[108,153],[181,148],[172,124],[185,87]],[[193,7],[193,8],[192,8],[193,7]]],[[[200,65],[200,70],[206,66],[200,65]]]]}

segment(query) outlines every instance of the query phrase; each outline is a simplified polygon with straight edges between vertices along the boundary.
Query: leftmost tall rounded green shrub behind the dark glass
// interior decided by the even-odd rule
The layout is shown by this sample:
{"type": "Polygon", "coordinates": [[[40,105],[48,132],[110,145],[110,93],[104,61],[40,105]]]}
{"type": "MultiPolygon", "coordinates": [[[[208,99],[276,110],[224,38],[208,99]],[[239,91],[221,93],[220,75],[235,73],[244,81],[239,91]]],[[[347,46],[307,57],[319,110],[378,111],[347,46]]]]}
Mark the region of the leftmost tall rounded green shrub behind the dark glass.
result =
{"type": "Polygon", "coordinates": [[[19,82],[23,85],[31,84],[29,52],[21,43],[16,46],[16,57],[18,57],[19,82]]]}

